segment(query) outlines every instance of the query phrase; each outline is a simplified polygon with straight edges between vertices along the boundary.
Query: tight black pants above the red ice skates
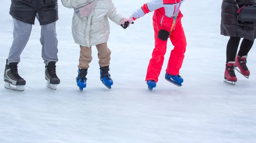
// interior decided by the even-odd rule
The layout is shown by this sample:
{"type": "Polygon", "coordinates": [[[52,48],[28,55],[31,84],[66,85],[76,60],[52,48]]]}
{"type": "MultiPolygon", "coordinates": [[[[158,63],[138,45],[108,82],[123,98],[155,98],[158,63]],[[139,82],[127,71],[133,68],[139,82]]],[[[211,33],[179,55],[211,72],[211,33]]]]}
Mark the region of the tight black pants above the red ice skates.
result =
{"type": "MultiPolygon", "coordinates": [[[[227,42],[226,62],[235,61],[240,40],[241,38],[239,37],[230,37],[229,41],[227,42]]],[[[250,49],[253,47],[253,42],[254,41],[248,39],[243,39],[237,55],[240,57],[246,56],[249,53],[250,49]]]]}

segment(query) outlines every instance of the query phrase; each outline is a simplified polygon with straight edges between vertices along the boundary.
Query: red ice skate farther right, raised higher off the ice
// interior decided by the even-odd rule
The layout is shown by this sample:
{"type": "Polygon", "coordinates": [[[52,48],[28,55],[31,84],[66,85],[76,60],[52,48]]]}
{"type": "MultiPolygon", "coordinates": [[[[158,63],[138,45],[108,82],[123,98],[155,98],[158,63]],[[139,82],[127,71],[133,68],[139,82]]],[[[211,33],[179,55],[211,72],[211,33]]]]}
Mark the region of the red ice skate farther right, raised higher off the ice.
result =
{"type": "Polygon", "coordinates": [[[248,70],[248,67],[246,65],[246,62],[247,62],[246,58],[247,58],[247,55],[246,56],[242,56],[242,57],[239,57],[238,55],[236,55],[235,69],[239,73],[241,73],[241,75],[243,75],[244,77],[249,79],[250,71],[248,70]]]}

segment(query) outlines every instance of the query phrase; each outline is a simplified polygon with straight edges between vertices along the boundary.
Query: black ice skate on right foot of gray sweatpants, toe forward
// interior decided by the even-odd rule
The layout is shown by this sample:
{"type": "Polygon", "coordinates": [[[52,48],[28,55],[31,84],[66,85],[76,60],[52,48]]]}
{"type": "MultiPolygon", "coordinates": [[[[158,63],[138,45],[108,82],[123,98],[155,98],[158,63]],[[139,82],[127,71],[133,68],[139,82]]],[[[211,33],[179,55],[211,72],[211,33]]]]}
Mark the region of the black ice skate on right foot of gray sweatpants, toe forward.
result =
{"type": "Polygon", "coordinates": [[[57,85],[60,84],[60,79],[56,75],[56,62],[47,62],[45,65],[45,79],[47,80],[46,86],[56,90],[57,85]]]}

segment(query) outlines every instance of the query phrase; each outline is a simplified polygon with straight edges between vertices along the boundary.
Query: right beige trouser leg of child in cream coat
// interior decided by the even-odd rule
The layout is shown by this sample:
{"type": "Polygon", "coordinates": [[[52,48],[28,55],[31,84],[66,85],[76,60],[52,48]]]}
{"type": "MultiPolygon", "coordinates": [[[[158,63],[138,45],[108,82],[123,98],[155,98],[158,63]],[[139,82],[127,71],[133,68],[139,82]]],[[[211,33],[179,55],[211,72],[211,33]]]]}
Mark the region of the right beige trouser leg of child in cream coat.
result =
{"type": "Polygon", "coordinates": [[[108,49],[107,43],[96,45],[98,50],[99,65],[101,67],[109,66],[111,50],[108,49]]]}

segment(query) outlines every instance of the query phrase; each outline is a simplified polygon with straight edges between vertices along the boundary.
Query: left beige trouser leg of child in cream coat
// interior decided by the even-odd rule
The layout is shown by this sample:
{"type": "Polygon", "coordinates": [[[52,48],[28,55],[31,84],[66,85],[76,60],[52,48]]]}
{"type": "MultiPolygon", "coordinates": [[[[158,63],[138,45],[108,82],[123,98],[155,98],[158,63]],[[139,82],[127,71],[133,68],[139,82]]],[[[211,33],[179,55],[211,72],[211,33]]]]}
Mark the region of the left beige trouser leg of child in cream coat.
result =
{"type": "Polygon", "coordinates": [[[80,57],[79,57],[79,69],[87,69],[89,68],[89,64],[92,61],[92,48],[84,47],[80,45],[80,57]]]}

